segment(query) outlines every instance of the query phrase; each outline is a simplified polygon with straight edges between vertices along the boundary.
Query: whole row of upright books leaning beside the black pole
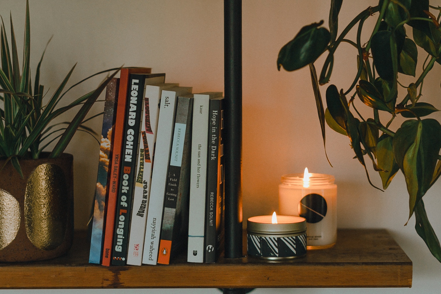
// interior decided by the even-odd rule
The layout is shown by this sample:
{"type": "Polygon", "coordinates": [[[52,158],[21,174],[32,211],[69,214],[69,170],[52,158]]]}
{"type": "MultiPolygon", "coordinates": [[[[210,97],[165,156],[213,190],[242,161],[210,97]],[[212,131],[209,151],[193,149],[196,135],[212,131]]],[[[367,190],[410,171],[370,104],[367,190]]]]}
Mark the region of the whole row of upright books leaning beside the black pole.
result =
{"type": "Polygon", "coordinates": [[[150,68],[106,89],[90,263],[215,262],[223,238],[223,97],[150,68]]]}

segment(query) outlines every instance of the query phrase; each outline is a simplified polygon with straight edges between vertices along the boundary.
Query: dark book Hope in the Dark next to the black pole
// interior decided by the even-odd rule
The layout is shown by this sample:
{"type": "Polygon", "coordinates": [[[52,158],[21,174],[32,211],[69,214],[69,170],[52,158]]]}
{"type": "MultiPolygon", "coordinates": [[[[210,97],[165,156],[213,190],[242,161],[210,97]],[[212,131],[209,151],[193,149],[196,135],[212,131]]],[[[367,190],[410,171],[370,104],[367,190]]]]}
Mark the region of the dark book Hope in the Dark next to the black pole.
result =
{"type": "Polygon", "coordinates": [[[223,241],[224,168],[223,97],[210,100],[207,156],[207,193],[205,219],[205,262],[214,263],[221,253],[223,241]]]}

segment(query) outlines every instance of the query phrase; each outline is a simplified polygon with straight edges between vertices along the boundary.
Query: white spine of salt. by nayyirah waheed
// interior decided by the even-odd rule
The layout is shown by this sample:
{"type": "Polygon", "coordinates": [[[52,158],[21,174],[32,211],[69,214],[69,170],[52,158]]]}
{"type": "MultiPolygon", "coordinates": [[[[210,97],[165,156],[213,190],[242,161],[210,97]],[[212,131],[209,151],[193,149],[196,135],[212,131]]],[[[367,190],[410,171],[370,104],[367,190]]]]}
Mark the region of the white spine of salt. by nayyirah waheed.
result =
{"type": "Polygon", "coordinates": [[[156,264],[158,258],[168,160],[170,159],[173,122],[176,110],[176,93],[163,90],[160,107],[155,164],[153,165],[149,210],[147,212],[146,237],[142,253],[143,264],[156,264]]]}

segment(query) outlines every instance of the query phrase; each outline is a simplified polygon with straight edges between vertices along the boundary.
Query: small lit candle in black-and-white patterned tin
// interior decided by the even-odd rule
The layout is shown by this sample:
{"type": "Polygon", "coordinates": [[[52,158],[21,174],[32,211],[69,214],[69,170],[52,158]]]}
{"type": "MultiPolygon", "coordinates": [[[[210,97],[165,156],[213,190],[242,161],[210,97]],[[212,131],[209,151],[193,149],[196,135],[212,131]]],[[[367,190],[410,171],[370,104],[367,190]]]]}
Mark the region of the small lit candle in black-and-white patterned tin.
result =
{"type": "Polygon", "coordinates": [[[291,215],[253,216],[247,220],[248,255],[283,260],[306,254],[306,219],[291,215]]]}

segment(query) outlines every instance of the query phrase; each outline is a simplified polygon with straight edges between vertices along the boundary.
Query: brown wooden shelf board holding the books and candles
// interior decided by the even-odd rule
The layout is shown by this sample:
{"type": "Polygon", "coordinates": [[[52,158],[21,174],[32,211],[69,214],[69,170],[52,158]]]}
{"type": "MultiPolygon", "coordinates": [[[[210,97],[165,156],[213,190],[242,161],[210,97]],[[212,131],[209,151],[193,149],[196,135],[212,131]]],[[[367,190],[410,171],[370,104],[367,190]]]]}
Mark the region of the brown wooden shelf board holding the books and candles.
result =
{"type": "MultiPolygon", "coordinates": [[[[88,264],[86,235],[78,232],[66,256],[32,263],[0,263],[0,288],[266,288],[411,287],[412,261],[386,230],[344,229],[330,249],[306,257],[263,262],[244,257],[217,264],[104,267],[88,264]]],[[[246,242],[244,243],[246,245],[246,242]]]]}

